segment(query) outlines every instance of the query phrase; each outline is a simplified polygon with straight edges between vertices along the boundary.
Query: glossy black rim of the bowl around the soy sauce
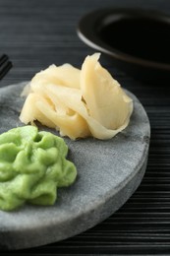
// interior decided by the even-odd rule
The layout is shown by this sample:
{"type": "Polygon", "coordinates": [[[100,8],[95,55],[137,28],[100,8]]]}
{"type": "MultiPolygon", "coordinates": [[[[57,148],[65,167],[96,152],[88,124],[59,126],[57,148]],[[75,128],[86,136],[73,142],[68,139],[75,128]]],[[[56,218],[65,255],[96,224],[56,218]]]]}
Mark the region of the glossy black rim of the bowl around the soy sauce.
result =
{"type": "Polygon", "coordinates": [[[170,71],[170,64],[162,62],[145,60],[140,57],[127,54],[120,51],[117,48],[109,46],[107,43],[102,41],[94,29],[97,23],[100,23],[101,19],[104,19],[108,15],[130,15],[134,17],[141,17],[156,22],[163,22],[170,25],[170,16],[161,13],[159,11],[144,10],[144,9],[129,9],[129,8],[105,8],[97,9],[90,13],[85,14],[78,24],[77,33],[79,37],[88,46],[101,51],[110,57],[117,60],[124,61],[126,63],[136,64],[145,68],[155,68],[160,70],[170,71]]]}

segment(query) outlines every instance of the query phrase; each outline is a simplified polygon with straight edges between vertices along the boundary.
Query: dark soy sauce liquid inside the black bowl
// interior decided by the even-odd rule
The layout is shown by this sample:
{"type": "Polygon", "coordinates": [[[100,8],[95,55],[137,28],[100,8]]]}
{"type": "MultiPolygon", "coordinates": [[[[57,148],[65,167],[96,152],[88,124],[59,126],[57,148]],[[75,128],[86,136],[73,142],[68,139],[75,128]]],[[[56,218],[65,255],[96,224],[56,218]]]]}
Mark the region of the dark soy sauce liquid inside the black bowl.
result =
{"type": "Polygon", "coordinates": [[[170,25],[150,20],[124,19],[103,26],[100,38],[109,46],[145,60],[170,63],[170,25]]]}

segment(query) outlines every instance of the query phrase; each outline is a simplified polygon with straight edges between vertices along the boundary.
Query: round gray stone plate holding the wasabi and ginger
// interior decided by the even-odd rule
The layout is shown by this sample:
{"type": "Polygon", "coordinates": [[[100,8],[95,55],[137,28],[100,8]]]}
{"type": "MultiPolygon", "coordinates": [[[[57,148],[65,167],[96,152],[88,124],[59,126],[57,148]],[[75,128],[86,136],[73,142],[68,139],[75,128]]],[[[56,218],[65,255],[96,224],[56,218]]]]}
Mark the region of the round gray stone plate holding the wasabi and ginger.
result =
{"type": "MultiPolygon", "coordinates": [[[[25,85],[0,89],[0,133],[23,125],[19,115],[25,85]]],[[[123,132],[107,141],[65,138],[68,159],[76,164],[78,178],[71,187],[58,190],[54,206],[0,211],[1,249],[28,248],[76,235],[108,218],[135,192],[146,167],[150,127],[140,101],[127,93],[135,107],[123,132]]]]}

